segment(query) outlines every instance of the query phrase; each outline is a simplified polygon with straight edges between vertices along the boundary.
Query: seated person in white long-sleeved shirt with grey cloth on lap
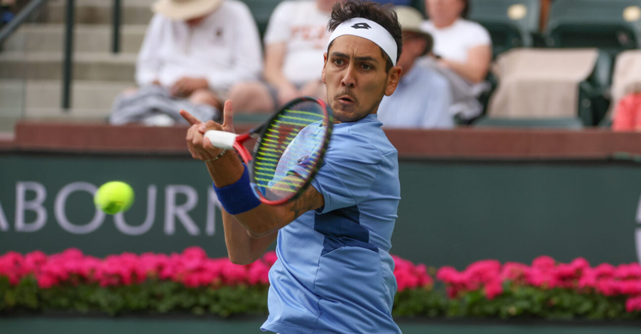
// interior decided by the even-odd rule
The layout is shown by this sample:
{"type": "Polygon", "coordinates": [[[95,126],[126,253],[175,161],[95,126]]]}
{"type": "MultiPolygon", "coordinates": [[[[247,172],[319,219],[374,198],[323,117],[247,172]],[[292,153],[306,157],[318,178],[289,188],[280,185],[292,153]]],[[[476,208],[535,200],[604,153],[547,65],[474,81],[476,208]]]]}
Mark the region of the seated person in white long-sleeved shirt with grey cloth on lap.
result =
{"type": "Polygon", "coordinates": [[[262,69],[249,8],[238,0],[159,0],[153,11],[136,64],[140,89],[118,97],[110,121],[146,123],[151,117],[171,125],[182,121],[180,108],[217,118],[229,88],[262,69]]]}

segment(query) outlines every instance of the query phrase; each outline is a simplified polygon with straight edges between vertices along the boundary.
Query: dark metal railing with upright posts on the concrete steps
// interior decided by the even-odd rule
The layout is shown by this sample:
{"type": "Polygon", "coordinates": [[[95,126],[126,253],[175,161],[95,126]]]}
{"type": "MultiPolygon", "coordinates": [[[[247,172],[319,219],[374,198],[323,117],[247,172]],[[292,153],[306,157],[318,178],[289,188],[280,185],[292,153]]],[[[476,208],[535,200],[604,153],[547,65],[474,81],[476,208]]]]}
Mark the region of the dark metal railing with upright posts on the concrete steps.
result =
{"type": "MultiPolygon", "coordinates": [[[[40,8],[48,0],[31,0],[21,12],[18,13],[12,21],[4,28],[0,29],[0,50],[4,41],[23,24],[35,10],[40,8]]],[[[62,63],[62,99],[61,108],[68,111],[71,108],[71,82],[73,69],[73,51],[74,51],[74,22],[75,22],[75,0],[67,0],[65,4],[65,33],[63,41],[63,63],[62,63]]],[[[122,1],[113,0],[112,7],[112,53],[121,51],[121,15],[122,1]]]]}

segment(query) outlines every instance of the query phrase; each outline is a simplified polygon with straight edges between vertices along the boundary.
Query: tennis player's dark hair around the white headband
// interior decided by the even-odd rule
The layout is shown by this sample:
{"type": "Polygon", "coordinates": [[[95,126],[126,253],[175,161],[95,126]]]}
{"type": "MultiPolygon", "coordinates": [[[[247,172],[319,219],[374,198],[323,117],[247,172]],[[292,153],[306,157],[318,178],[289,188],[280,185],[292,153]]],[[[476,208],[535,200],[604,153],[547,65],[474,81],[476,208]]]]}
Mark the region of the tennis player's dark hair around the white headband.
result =
{"type": "MultiPolygon", "coordinates": [[[[334,31],[339,24],[354,17],[362,17],[363,19],[374,21],[385,28],[396,42],[396,59],[398,60],[401,57],[401,51],[403,50],[403,33],[401,32],[401,24],[399,24],[398,17],[392,5],[381,5],[362,0],[347,0],[344,4],[340,2],[336,3],[331,8],[331,19],[329,19],[328,23],[329,31],[334,31]]],[[[331,43],[329,46],[331,46],[331,43]]],[[[385,71],[389,72],[392,66],[394,66],[392,60],[382,48],[381,53],[387,61],[385,71]]]]}

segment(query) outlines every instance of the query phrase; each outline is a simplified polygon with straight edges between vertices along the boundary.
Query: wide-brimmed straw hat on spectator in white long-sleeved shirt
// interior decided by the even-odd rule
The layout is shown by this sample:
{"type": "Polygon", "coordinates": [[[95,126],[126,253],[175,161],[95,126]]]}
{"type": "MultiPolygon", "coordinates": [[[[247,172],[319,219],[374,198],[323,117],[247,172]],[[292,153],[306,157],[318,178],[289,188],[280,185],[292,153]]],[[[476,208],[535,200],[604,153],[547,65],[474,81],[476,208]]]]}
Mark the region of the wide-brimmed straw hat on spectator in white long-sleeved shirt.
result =
{"type": "Polygon", "coordinates": [[[223,0],[158,0],[152,6],[154,13],[160,13],[175,21],[185,21],[207,15],[216,10],[223,0]]]}

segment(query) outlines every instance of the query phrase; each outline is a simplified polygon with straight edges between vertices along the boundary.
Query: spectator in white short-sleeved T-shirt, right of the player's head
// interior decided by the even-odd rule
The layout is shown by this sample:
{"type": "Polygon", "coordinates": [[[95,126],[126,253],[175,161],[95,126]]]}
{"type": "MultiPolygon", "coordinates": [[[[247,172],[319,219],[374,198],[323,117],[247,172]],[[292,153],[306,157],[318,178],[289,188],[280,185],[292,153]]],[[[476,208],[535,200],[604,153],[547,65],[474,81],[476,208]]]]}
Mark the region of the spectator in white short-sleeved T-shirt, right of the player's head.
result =
{"type": "Polygon", "coordinates": [[[434,37],[439,65],[471,83],[483,81],[492,62],[492,40],[487,29],[465,19],[469,0],[425,0],[425,4],[429,20],[422,28],[434,37]]]}

